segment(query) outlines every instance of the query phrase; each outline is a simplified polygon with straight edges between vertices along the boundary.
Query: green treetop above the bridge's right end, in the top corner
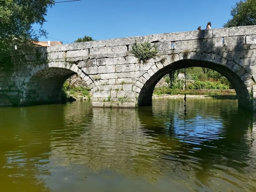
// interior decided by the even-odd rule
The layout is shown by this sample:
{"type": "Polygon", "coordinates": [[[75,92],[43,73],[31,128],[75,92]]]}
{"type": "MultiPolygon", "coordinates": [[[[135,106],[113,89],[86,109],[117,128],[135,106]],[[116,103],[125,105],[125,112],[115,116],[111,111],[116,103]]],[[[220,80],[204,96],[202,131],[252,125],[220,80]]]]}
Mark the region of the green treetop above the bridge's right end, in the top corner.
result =
{"type": "Polygon", "coordinates": [[[233,18],[223,27],[256,25],[256,0],[240,0],[232,7],[230,15],[233,18]]]}

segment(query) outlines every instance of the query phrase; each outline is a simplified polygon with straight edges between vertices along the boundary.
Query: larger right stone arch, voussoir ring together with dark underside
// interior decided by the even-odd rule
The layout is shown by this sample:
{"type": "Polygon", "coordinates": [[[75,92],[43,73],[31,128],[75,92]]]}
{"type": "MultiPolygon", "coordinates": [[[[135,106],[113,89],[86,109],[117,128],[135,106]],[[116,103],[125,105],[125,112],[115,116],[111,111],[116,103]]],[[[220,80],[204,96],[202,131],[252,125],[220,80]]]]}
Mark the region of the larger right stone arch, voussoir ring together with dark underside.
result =
{"type": "Polygon", "coordinates": [[[250,92],[254,80],[243,67],[232,60],[215,54],[196,54],[195,52],[169,55],[163,57],[161,62],[156,62],[136,82],[134,91],[138,93],[138,106],[151,106],[152,94],[157,82],[173,70],[187,67],[205,67],[213,69],[225,76],[233,85],[239,106],[252,109],[250,92]]]}

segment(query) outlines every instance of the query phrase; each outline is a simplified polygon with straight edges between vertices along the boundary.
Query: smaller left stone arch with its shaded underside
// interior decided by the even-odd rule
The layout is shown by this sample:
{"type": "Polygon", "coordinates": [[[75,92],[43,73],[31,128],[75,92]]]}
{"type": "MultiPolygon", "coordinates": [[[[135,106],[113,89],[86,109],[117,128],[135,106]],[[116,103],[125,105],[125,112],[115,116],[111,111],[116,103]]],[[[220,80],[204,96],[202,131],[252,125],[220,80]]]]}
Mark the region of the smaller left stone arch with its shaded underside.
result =
{"type": "Polygon", "coordinates": [[[22,104],[55,103],[61,101],[61,90],[66,79],[78,74],[95,92],[93,80],[76,64],[50,62],[34,66],[26,75],[23,83],[22,104]]]}

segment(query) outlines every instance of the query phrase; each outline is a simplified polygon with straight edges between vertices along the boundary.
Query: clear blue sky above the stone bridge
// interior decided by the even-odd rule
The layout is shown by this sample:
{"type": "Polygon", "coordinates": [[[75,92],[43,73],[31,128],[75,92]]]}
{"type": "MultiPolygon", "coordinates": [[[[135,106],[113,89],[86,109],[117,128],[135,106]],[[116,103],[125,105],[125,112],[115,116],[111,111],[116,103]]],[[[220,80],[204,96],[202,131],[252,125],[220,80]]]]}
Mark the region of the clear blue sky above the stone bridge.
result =
{"type": "MultiPolygon", "coordinates": [[[[65,0],[56,0],[65,1],[65,0]]],[[[48,37],[95,40],[221,28],[238,0],[81,0],[56,3],[48,9],[43,28],[48,37]]],[[[51,40],[41,37],[40,41],[51,40]]],[[[70,42],[70,41],[69,41],[70,42]]]]}

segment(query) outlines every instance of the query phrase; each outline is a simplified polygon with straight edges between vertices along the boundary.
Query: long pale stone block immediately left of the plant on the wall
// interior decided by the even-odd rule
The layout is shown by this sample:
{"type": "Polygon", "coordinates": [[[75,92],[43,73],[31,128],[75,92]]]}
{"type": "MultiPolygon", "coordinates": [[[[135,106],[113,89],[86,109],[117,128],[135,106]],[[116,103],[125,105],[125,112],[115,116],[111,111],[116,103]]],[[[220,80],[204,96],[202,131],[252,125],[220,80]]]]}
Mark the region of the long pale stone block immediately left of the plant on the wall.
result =
{"type": "Polygon", "coordinates": [[[127,53],[127,47],[125,45],[113,46],[113,47],[97,47],[90,49],[91,59],[100,59],[103,57],[124,57],[127,53]]]}

